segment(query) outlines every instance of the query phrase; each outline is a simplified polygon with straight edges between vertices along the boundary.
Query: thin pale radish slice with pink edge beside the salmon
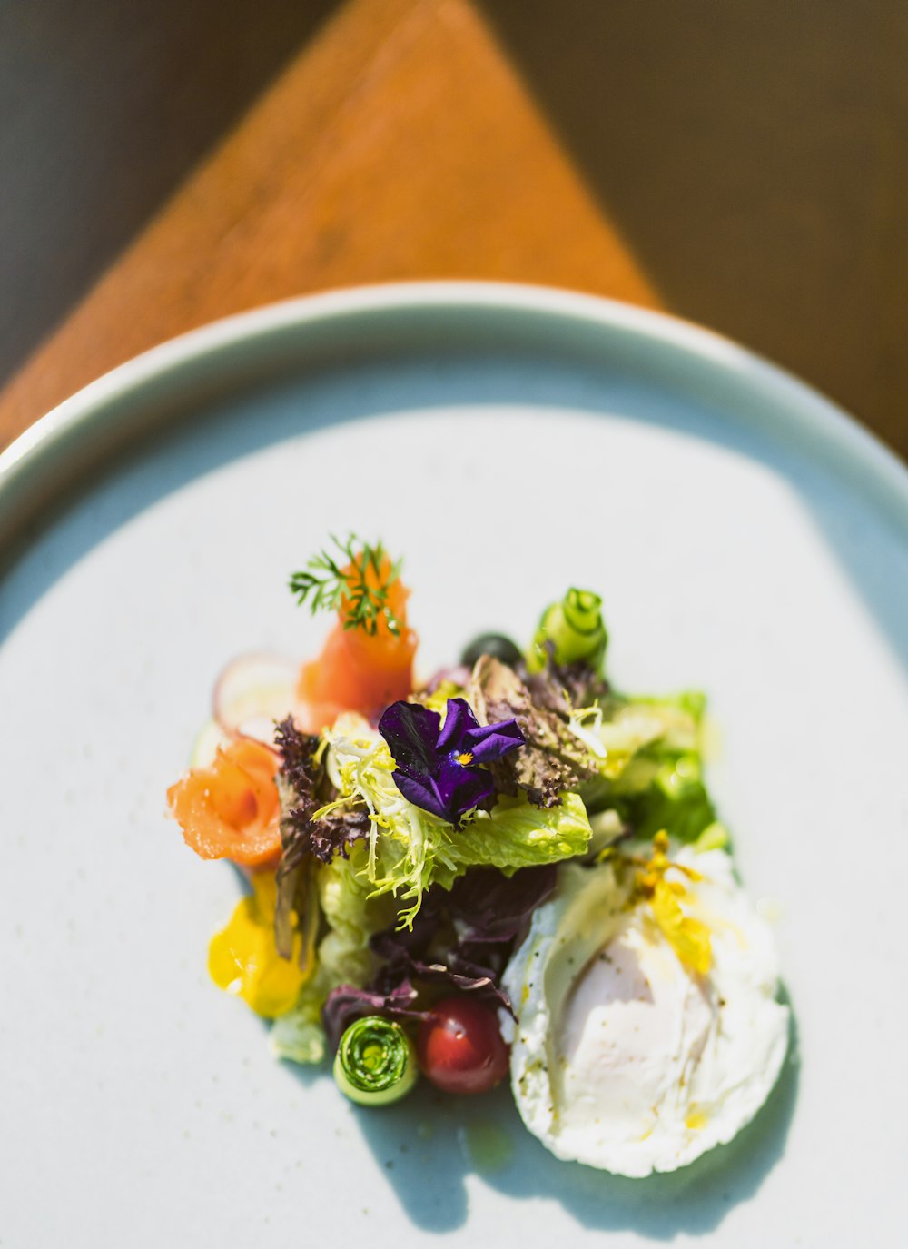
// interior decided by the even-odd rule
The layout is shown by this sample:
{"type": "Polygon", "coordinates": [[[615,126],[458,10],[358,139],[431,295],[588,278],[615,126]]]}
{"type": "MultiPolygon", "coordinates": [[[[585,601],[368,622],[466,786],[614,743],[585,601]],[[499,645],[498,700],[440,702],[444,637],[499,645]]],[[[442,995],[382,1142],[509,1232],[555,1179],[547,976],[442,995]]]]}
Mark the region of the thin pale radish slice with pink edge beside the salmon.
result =
{"type": "Polygon", "coordinates": [[[241,654],[215,686],[215,721],[231,738],[252,737],[274,747],[275,721],[296,707],[299,667],[276,654],[241,654]]]}

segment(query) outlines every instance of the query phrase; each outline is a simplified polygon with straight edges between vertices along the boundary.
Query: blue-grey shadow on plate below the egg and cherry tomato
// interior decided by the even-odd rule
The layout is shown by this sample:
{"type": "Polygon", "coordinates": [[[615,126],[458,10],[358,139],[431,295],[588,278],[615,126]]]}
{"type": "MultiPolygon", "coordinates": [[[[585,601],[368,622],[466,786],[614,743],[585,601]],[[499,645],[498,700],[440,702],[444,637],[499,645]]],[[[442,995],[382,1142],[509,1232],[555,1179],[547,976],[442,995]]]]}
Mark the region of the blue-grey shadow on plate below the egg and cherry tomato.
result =
{"type": "MultiPolygon", "coordinates": [[[[711,1232],[737,1203],[756,1194],[784,1153],[798,1074],[792,1014],[788,1057],[753,1123],[692,1165],[643,1180],[553,1158],[523,1127],[507,1087],[470,1100],[446,1097],[422,1082],[397,1105],[357,1108],[356,1119],[403,1212],[426,1232],[441,1234],[467,1222],[467,1180],[475,1178],[517,1203],[561,1203],[587,1228],[631,1229],[669,1240],[678,1233],[711,1232]]],[[[301,1078],[308,1083],[312,1077],[301,1078]]],[[[523,1218],[532,1218],[530,1208],[521,1213],[516,1205],[515,1219],[523,1218]]]]}

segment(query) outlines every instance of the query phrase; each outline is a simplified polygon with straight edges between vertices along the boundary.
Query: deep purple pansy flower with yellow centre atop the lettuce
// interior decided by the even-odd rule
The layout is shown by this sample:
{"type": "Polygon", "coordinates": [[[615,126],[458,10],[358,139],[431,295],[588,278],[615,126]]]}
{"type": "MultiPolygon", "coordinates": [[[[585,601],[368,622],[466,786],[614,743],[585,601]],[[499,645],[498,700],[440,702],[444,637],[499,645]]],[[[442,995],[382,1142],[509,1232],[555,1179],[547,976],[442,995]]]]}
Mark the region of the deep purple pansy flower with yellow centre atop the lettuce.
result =
{"type": "Polygon", "coordinates": [[[525,743],[516,719],[480,724],[465,698],[448,698],[443,728],[438,712],[421,703],[392,703],[378,732],[397,764],[395,784],[403,797],[451,824],[495,792],[480,764],[525,743]]]}

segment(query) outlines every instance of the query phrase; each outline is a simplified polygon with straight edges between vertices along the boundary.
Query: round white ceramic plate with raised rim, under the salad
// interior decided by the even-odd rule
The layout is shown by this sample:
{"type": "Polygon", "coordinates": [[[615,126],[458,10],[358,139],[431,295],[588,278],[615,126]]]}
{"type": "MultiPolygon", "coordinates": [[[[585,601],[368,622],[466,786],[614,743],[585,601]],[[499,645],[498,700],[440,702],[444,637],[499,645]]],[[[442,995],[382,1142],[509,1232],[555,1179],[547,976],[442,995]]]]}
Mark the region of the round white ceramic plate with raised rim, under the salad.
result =
{"type": "Polygon", "coordinates": [[[0,542],[4,1247],[902,1243],[908,475],[829,403],[619,305],[352,291],[62,405],[0,458],[0,542]],[[350,528],[405,553],[426,668],[580,582],[619,684],[709,692],[801,1054],[733,1145],[622,1182],[505,1092],[361,1112],[209,983],[237,884],[164,791],[226,659],[317,646],[287,573],[350,528]]]}

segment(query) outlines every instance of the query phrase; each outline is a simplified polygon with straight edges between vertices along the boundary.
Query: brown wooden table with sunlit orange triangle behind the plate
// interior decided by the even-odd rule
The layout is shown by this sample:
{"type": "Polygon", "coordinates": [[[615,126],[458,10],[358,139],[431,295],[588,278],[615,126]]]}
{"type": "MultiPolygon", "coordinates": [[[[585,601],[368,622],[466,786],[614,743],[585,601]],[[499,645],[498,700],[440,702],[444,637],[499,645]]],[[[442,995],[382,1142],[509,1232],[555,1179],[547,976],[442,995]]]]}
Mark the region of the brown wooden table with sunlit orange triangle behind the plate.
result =
{"type": "Polygon", "coordinates": [[[701,321],[908,456],[902,0],[11,0],[0,445],[214,317],[420,277],[701,321]]]}

